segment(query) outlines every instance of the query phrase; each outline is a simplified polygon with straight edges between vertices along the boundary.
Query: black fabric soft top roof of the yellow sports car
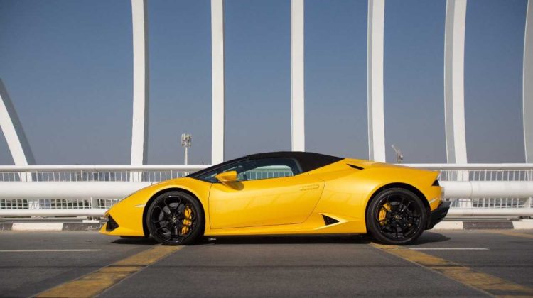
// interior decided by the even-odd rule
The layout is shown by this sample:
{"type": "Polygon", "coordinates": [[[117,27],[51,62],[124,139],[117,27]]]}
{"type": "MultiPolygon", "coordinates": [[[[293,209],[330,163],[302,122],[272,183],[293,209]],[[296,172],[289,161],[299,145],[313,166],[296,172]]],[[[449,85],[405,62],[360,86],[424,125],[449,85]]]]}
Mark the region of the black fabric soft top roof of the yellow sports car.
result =
{"type": "Polygon", "coordinates": [[[187,177],[195,178],[200,175],[203,175],[206,172],[211,172],[212,170],[216,170],[218,167],[224,167],[225,165],[230,165],[234,162],[240,162],[243,160],[257,160],[261,158],[294,158],[296,161],[298,161],[298,164],[300,165],[302,172],[309,172],[311,170],[318,169],[319,167],[330,165],[333,162],[338,162],[339,160],[343,160],[343,158],[338,158],[336,156],[325,155],[321,153],[313,153],[313,152],[301,152],[301,151],[266,152],[266,153],[257,153],[257,154],[247,155],[242,158],[236,158],[235,160],[229,160],[227,162],[222,162],[218,165],[213,165],[212,167],[208,167],[207,169],[194,172],[188,175],[187,177]]]}

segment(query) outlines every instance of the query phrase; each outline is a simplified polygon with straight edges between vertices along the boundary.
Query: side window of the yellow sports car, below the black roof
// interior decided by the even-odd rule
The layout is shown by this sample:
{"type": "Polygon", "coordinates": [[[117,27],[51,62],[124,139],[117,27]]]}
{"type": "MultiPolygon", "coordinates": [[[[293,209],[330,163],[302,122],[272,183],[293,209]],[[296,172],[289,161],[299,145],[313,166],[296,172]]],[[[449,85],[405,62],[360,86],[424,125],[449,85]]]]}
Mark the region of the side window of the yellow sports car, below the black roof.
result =
{"type": "Polygon", "coordinates": [[[289,177],[301,173],[298,163],[292,158],[260,158],[225,165],[198,178],[215,183],[218,182],[215,176],[227,171],[236,171],[239,181],[289,177]]]}

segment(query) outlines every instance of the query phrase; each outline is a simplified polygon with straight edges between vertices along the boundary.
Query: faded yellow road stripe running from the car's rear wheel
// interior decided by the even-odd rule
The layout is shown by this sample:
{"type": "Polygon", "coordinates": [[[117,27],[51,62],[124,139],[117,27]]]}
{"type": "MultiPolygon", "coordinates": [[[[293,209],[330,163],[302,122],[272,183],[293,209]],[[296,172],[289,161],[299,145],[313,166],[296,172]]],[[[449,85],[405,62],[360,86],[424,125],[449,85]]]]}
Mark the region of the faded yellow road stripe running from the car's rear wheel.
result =
{"type": "Polygon", "coordinates": [[[402,248],[400,246],[381,245],[377,243],[371,243],[370,245],[391,255],[408,260],[411,263],[439,272],[452,280],[461,282],[463,285],[473,287],[491,296],[500,297],[501,295],[507,295],[509,297],[516,297],[518,295],[522,297],[533,297],[532,288],[518,285],[487,273],[475,271],[469,267],[438,258],[434,255],[421,253],[419,250],[410,250],[409,248],[402,248]]]}

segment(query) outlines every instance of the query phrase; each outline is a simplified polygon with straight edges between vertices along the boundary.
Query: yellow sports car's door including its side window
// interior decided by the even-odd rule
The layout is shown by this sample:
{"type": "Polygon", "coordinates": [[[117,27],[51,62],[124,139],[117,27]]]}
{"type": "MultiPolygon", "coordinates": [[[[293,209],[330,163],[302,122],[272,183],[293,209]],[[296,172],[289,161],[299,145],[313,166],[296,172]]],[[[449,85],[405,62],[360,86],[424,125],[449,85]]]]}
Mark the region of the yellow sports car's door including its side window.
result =
{"type": "Polygon", "coordinates": [[[305,221],[320,199],[324,182],[301,173],[296,160],[266,158],[228,167],[237,182],[212,184],[211,228],[274,226],[305,221]],[[251,163],[251,165],[250,165],[251,163]]]}

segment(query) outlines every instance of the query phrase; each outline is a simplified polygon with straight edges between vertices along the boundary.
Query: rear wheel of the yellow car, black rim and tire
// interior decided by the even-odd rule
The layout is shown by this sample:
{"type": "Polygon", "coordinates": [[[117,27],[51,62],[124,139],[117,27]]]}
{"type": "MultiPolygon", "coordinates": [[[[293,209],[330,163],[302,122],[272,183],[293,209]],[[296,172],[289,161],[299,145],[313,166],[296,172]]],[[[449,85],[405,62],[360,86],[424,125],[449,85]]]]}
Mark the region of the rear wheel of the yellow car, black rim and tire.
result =
{"type": "Polygon", "coordinates": [[[404,245],[416,241],[427,223],[421,198],[403,188],[384,189],[370,202],[365,216],[367,231],[376,241],[404,245]]]}

